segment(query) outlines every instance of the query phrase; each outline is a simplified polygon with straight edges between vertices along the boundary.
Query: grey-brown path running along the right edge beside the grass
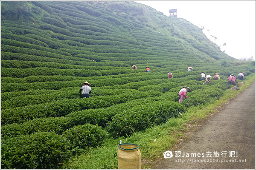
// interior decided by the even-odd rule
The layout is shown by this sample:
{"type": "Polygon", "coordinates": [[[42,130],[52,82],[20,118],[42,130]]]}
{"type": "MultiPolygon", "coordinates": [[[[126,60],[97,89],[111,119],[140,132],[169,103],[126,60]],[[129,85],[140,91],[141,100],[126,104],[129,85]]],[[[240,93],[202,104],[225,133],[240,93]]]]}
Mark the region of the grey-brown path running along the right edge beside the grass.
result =
{"type": "Polygon", "coordinates": [[[150,169],[255,169],[255,82],[201,122],[172,153],[150,169]]]}

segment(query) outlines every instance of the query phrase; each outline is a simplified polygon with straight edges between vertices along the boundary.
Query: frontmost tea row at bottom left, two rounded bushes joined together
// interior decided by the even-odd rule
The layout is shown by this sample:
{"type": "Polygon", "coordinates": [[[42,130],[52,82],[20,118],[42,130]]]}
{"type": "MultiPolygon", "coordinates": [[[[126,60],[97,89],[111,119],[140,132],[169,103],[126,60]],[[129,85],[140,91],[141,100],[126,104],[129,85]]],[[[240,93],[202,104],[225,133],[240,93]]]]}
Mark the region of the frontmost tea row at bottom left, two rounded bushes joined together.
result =
{"type": "Polygon", "coordinates": [[[107,132],[96,125],[78,125],[64,132],[38,132],[1,140],[1,168],[55,169],[72,156],[76,148],[96,147],[107,132]]]}

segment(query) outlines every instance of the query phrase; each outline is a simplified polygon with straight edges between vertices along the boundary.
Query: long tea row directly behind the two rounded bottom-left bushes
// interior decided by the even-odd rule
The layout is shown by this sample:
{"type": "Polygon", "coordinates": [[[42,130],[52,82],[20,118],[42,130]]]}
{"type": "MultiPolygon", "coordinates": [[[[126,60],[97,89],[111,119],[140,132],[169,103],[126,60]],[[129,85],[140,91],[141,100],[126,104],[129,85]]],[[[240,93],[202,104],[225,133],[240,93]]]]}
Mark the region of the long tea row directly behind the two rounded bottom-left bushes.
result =
{"type": "Polygon", "coordinates": [[[148,102],[154,101],[150,98],[134,99],[107,108],[74,111],[62,117],[37,118],[23,123],[4,125],[1,128],[1,138],[8,139],[19,135],[49,131],[54,131],[56,134],[61,135],[71,127],[84,125],[86,123],[106,127],[107,123],[111,121],[115,114],[122,113],[135,106],[140,107],[147,105],[148,102]]]}

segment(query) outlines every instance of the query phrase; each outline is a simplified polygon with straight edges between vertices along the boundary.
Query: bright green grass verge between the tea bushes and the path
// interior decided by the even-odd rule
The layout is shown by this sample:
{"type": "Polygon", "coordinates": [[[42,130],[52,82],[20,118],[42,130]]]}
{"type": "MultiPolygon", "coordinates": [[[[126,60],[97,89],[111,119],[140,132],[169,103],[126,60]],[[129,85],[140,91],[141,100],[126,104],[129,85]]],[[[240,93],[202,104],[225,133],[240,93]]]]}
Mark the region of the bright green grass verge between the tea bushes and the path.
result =
{"type": "MultiPolygon", "coordinates": [[[[139,144],[142,154],[142,169],[148,169],[154,161],[163,157],[166,150],[174,150],[178,144],[186,141],[197,125],[214,113],[230,99],[240,94],[255,81],[250,74],[243,81],[240,90],[227,90],[224,95],[207,105],[189,108],[177,118],[169,119],[165,124],[146,129],[129,136],[121,137],[122,143],[139,144]]],[[[105,139],[102,146],[89,148],[63,164],[63,169],[118,169],[117,144],[120,139],[105,139]]]]}

